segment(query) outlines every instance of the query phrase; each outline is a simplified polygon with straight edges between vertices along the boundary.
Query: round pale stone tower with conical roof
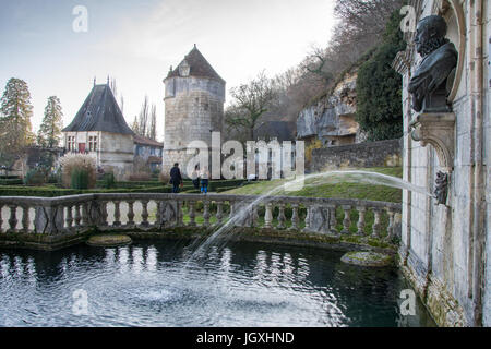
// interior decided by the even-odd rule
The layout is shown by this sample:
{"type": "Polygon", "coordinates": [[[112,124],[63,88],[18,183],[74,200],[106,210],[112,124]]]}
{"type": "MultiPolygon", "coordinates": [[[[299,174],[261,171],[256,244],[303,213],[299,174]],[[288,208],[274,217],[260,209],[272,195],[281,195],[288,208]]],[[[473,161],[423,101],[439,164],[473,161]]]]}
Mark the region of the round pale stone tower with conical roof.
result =
{"type": "Polygon", "coordinates": [[[169,173],[175,163],[181,171],[192,155],[188,144],[204,141],[212,146],[212,132],[221,132],[225,81],[215,72],[196,46],[164,80],[165,137],[163,171],[169,173]]]}

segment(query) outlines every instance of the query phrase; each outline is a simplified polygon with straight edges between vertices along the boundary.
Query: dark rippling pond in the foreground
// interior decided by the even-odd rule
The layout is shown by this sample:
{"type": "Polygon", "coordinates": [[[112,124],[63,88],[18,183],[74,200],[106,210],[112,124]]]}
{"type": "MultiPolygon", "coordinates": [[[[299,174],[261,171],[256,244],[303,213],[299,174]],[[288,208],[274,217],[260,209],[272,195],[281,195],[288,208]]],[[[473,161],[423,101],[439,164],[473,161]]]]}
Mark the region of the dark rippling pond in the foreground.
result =
{"type": "Polygon", "coordinates": [[[189,242],[0,251],[0,326],[434,326],[396,268],[342,252],[232,243],[189,262],[189,242]]]}

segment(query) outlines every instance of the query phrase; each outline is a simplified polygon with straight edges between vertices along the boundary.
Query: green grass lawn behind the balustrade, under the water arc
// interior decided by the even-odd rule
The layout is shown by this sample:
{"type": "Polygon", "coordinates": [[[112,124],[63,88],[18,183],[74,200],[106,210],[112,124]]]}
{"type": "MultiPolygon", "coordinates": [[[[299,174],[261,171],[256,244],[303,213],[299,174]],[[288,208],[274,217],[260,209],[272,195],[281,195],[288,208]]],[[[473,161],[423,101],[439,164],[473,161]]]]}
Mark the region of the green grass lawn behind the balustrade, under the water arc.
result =
{"type": "MultiPolygon", "coordinates": [[[[368,168],[360,169],[363,171],[378,172],[382,174],[393,176],[397,178],[403,177],[403,168],[368,168]]],[[[224,194],[236,195],[261,195],[270,190],[273,190],[279,184],[285,183],[285,180],[263,181],[255,184],[244,185],[242,188],[233,189],[224,194]]],[[[403,192],[400,189],[390,188],[385,185],[354,183],[349,180],[345,180],[343,176],[334,176],[325,180],[311,180],[306,181],[306,185],[302,190],[295,192],[285,192],[279,190],[273,195],[286,195],[286,196],[307,196],[307,197],[334,197],[334,198],[359,198],[370,201],[384,201],[400,203],[403,200],[403,192]]]]}

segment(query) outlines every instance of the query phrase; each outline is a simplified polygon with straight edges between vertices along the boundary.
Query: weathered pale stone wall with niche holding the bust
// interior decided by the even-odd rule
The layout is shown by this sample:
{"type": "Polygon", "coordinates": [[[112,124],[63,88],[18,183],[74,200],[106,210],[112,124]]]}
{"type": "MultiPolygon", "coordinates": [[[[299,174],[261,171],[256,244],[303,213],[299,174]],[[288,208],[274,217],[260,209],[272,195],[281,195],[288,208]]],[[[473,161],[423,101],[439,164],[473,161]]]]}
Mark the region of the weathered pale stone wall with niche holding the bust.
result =
{"type": "MultiPolygon", "coordinates": [[[[404,180],[433,193],[448,176],[443,204],[404,191],[403,270],[439,325],[491,326],[491,9],[486,0],[411,0],[417,22],[446,20],[458,51],[447,85],[451,112],[416,112],[408,83],[421,61],[415,45],[399,52],[403,75],[404,180]],[[452,76],[452,75],[451,75],[452,76]],[[439,177],[439,182],[435,178],[439,177]]],[[[415,33],[405,33],[414,43],[415,33]]]]}

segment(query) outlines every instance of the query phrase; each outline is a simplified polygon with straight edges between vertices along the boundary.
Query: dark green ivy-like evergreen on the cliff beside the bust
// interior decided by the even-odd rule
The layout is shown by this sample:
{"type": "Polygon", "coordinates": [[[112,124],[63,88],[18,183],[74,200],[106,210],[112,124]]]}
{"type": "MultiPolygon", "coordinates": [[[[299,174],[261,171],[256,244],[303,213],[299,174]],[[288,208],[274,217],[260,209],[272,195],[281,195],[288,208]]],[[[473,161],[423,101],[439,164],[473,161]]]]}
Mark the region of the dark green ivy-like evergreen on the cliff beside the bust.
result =
{"type": "Polygon", "coordinates": [[[397,52],[406,48],[400,20],[397,12],[392,15],[383,43],[358,71],[357,121],[370,141],[403,136],[403,82],[392,69],[397,52]]]}

